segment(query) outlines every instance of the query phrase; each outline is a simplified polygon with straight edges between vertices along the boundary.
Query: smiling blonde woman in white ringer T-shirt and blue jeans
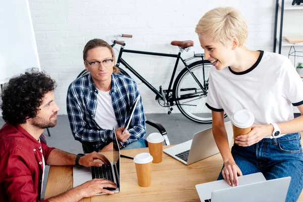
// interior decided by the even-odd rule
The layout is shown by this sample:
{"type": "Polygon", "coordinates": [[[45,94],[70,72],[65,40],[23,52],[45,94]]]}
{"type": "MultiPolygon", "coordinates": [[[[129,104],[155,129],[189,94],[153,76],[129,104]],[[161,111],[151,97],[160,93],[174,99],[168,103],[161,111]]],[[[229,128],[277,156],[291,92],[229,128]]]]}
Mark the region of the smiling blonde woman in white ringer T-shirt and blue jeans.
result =
{"type": "Polygon", "coordinates": [[[247,25],[234,8],[207,12],[195,31],[214,66],[206,105],[212,110],[213,134],[224,162],[218,179],[237,186],[237,176],[256,172],[267,180],[290,176],[286,201],[296,201],[303,186],[303,116],[294,119],[292,110],[296,106],[303,115],[299,75],[286,57],[245,47],[247,25]],[[224,113],[231,117],[241,109],[252,112],[255,123],[248,134],[236,138],[230,151],[224,113]]]}

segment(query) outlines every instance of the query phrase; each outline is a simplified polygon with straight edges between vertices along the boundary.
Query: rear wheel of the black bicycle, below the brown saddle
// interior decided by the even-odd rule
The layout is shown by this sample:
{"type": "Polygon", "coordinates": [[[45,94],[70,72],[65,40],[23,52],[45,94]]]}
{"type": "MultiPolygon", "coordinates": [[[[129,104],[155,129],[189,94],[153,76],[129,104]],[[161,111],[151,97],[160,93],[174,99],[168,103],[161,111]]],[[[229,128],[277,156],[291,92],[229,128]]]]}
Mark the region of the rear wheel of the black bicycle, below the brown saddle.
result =
{"type": "Polygon", "coordinates": [[[207,60],[196,61],[188,66],[190,72],[185,67],[174,83],[173,95],[178,109],[186,118],[194,122],[212,123],[212,111],[205,105],[212,66],[207,60]],[[197,78],[202,88],[191,73],[197,78]]]}

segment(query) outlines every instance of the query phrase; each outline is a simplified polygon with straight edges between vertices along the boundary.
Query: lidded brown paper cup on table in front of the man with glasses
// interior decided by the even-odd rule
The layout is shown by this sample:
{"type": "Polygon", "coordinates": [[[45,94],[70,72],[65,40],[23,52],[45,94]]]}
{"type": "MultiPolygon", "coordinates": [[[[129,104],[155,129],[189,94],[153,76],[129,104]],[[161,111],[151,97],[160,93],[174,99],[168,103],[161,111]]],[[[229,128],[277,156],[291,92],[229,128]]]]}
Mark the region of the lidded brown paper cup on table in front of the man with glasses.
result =
{"type": "Polygon", "coordinates": [[[146,140],[148,142],[149,153],[154,159],[153,163],[161,163],[164,137],[160,133],[150,133],[146,140]]]}

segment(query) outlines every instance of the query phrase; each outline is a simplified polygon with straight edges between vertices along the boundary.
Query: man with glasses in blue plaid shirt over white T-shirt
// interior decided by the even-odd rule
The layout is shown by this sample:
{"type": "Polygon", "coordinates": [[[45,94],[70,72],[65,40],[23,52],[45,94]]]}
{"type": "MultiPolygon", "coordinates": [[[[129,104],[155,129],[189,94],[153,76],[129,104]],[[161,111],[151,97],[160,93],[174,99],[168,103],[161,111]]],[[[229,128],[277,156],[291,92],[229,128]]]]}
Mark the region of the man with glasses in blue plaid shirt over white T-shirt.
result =
{"type": "Polygon", "coordinates": [[[84,153],[113,149],[114,130],[123,149],[146,147],[145,115],[141,98],[129,130],[123,133],[129,110],[139,96],[137,84],[119,74],[113,48],[102,39],[88,41],[83,50],[84,75],[71,83],[67,114],[74,138],[84,153]]]}

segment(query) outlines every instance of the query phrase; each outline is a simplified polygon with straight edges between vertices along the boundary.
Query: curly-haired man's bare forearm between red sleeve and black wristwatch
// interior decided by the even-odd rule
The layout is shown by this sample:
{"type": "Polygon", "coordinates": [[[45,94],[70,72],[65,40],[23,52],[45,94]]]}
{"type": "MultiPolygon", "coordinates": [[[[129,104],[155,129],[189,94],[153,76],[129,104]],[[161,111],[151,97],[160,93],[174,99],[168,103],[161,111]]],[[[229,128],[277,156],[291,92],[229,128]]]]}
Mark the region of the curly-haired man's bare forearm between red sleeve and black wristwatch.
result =
{"type": "Polygon", "coordinates": [[[77,155],[55,148],[49,154],[46,164],[49,166],[75,165],[76,157],[77,155]]]}

